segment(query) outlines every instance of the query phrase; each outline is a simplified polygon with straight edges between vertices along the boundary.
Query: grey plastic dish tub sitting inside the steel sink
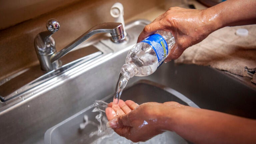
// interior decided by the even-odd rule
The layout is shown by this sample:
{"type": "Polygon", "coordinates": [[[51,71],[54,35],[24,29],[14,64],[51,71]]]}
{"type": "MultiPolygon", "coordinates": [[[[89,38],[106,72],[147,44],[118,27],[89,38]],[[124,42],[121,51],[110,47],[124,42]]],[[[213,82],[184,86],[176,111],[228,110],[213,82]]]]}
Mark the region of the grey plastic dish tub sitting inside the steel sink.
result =
{"type": "MultiPolygon", "coordinates": [[[[167,88],[163,85],[147,81],[140,80],[136,82],[129,88],[126,88],[121,98],[123,100],[131,99],[138,104],[145,102],[167,102],[176,101],[184,105],[189,105],[193,107],[198,106],[189,100],[187,97],[181,93],[175,91],[174,89],[167,88]]],[[[106,102],[113,101],[113,94],[103,98],[106,102]]],[[[131,141],[120,137],[111,128],[104,127],[105,134],[100,136],[90,137],[90,133],[98,130],[99,122],[95,119],[95,116],[99,112],[92,112],[93,105],[85,108],[84,110],[78,112],[72,117],[64,120],[63,122],[55,125],[54,127],[48,129],[45,133],[44,144],[112,144],[112,143],[130,143],[131,141]],[[94,122],[97,125],[89,124],[84,129],[80,129],[80,124],[84,123],[84,116],[87,116],[86,121],[94,122]]],[[[105,116],[105,113],[104,113],[105,116]]],[[[104,121],[103,121],[104,122],[104,121]]],[[[106,123],[103,123],[105,126],[106,123]]],[[[145,144],[162,144],[162,143],[175,143],[175,144],[188,144],[185,139],[177,135],[175,132],[165,132],[158,135],[145,144]]]]}

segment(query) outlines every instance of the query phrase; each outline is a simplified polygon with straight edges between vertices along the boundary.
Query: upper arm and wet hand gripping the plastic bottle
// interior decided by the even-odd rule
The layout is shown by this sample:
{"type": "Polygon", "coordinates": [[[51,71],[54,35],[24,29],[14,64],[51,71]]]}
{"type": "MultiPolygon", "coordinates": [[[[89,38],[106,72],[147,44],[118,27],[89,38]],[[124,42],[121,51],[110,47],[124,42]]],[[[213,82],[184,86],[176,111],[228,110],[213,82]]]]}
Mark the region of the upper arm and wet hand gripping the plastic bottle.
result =
{"type": "Polygon", "coordinates": [[[220,28],[256,24],[255,7],[255,0],[227,0],[204,10],[172,7],[145,26],[138,42],[157,30],[170,31],[176,43],[165,61],[177,59],[185,49],[220,28]]]}

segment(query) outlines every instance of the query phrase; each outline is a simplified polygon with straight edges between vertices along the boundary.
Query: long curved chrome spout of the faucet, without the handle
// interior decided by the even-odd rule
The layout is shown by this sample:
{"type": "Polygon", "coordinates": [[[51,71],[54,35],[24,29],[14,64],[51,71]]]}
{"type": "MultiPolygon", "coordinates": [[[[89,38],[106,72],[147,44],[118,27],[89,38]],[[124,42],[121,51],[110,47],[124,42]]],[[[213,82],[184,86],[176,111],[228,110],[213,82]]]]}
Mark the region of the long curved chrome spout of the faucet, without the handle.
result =
{"type": "Polygon", "coordinates": [[[59,58],[67,54],[70,50],[72,50],[73,48],[75,48],[76,46],[78,46],[79,44],[81,44],[91,36],[98,33],[110,33],[113,40],[120,40],[124,38],[124,29],[123,29],[122,23],[114,23],[114,22],[102,23],[92,27],[83,35],[81,35],[79,38],[77,38],[72,43],[67,45],[65,48],[63,48],[56,54],[52,55],[51,62],[58,60],[59,58]]]}

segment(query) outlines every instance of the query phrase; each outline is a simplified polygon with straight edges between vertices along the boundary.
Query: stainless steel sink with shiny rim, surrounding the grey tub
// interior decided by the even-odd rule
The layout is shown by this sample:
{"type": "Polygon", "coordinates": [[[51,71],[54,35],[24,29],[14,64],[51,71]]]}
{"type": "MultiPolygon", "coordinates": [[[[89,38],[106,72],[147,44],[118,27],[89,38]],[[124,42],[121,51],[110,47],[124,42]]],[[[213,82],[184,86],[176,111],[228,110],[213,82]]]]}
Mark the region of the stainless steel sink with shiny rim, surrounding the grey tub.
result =
{"type": "MultiPolygon", "coordinates": [[[[126,24],[128,42],[117,44],[110,39],[101,40],[96,44],[104,50],[100,56],[72,65],[43,82],[36,79],[38,85],[2,102],[1,143],[42,144],[49,128],[89,107],[95,100],[113,94],[128,50],[148,23],[138,20],[126,24]]],[[[176,65],[172,61],[162,64],[150,76],[131,78],[127,87],[142,79],[172,88],[200,108],[256,118],[256,86],[227,72],[197,65],[176,65]]],[[[128,92],[122,98],[144,102],[128,92]]],[[[145,96],[144,100],[150,101],[150,98],[152,96],[145,96]]]]}

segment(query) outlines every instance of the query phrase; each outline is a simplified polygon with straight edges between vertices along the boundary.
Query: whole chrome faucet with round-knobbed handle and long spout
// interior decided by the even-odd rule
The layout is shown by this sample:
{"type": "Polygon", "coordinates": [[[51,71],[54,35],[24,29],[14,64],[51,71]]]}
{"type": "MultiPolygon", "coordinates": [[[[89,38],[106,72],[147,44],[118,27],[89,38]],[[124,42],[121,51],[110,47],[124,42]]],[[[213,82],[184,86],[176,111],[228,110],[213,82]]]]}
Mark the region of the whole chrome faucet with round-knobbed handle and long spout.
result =
{"type": "Polygon", "coordinates": [[[51,35],[59,30],[60,23],[56,19],[49,19],[46,23],[46,28],[48,31],[40,32],[35,37],[34,41],[37,57],[41,65],[41,69],[44,71],[51,71],[59,67],[59,58],[95,34],[110,33],[113,40],[120,40],[124,38],[124,29],[121,23],[102,23],[92,27],[65,48],[56,52],[55,41],[51,35]]]}

